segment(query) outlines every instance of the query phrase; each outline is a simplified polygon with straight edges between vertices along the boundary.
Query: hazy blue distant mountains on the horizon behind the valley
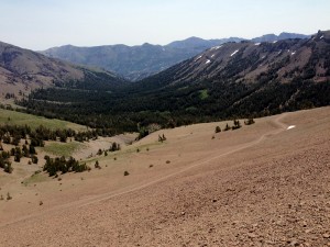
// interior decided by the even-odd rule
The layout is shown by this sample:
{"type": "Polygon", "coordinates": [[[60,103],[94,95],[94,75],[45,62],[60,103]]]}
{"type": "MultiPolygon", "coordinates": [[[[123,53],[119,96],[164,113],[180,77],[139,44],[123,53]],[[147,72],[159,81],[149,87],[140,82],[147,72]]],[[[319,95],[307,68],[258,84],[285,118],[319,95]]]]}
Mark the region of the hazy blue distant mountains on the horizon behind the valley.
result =
{"type": "MultiPolygon", "coordinates": [[[[282,33],[278,36],[267,34],[255,37],[252,42],[273,42],[286,38],[307,38],[308,35],[282,33]]],[[[229,37],[220,40],[202,40],[189,37],[172,42],[168,45],[145,43],[138,46],[105,45],[95,47],[77,47],[65,45],[41,52],[52,57],[74,64],[92,66],[113,71],[129,80],[136,81],[157,74],[179,61],[188,59],[204,50],[228,42],[241,42],[245,38],[229,37]]]]}

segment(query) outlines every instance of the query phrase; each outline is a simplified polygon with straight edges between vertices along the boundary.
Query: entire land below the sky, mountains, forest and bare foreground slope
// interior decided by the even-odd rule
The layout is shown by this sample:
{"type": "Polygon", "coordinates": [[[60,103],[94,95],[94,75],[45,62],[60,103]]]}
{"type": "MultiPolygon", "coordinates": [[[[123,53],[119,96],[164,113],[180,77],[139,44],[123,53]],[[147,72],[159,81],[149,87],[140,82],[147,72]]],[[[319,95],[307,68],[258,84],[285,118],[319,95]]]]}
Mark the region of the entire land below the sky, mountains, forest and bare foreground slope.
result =
{"type": "Polygon", "coordinates": [[[0,246],[329,246],[329,96],[330,31],[0,42],[0,246]]]}

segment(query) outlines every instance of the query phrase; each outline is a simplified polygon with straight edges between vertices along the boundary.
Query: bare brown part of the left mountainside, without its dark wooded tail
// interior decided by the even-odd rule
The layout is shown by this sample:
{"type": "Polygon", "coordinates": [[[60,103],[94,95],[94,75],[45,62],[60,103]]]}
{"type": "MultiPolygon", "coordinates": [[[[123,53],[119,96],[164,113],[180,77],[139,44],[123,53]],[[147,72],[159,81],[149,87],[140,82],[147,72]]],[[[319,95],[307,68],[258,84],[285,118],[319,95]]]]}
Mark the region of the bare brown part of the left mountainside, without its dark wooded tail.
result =
{"type": "Polygon", "coordinates": [[[47,58],[38,53],[0,42],[0,88],[6,93],[29,94],[53,81],[82,79],[84,72],[68,63],[47,58]]]}

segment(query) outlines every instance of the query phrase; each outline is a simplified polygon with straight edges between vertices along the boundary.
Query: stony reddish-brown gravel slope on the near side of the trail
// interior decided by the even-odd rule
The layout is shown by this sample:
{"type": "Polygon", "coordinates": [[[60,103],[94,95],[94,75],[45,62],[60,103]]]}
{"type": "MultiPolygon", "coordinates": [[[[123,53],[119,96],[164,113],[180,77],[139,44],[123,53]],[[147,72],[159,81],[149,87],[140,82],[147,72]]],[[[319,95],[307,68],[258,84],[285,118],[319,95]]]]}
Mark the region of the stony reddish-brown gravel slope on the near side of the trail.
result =
{"type": "Polygon", "coordinates": [[[3,223],[0,245],[330,246],[329,113],[258,120],[267,127],[251,126],[237,151],[206,149],[200,165],[147,186],[3,223]]]}

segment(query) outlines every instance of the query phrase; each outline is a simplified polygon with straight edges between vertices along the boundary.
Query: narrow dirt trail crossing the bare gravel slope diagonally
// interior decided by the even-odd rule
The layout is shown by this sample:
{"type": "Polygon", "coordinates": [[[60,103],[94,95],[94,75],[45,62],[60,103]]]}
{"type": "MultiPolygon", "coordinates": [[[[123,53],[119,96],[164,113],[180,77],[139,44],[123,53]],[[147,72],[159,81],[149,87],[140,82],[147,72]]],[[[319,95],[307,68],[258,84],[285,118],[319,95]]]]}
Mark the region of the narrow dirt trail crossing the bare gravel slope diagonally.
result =
{"type": "Polygon", "coordinates": [[[3,228],[8,225],[12,225],[12,224],[15,224],[15,223],[29,220],[29,218],[38,217],[38,216],[42,216],[42,215],[46,215],[48,213],[55,213],[56,211],[65,210],[65,209],[68,209],[68,207],[73,207],[73,206],[82,207],[82,206],[90,205],[90,204],[98,203],[98,202],[102,202],[102,201],[106,201],[106,200],[109,200],[109,199],[112,199],[112,198],[116,198],[116,197],[120,197],[120,195],[123,195],[123,194],[127,194],[127,193],[131,193],[131,192],[134,192],[134,191],[138,191],[138,190],[142,190],[144,188],[147,188],[147,187],[153,186],[155,183],[158,183],[161,181],[165,181],[165,180],[167,180],[169,178],[173,178],[177,175],[180,175],[183,172],[186,172],[186,171],[188,171],[193,168],[196,168],[196,167],[206,165],[208,162],[211,162],[213,160],[217,160],[219,158],[222,158],[223,156],[228,156],[228,155],[231,155],[233,153],[237,153],[237,151],[243,150],[245,148],[252,147],[254,145],[260,144],[265,138],[268,138],[273,135],[277,135],[280,132],[285,131],[288,125],[280,122],[280,120],[285,116],[286,116],[286,113],[278,115],[275,120],[270,120],[270,123],[275,124],[277,126],[277,130],[267,132],[267,133],[263,134],[262,136],[260,136],[257,139],[252,141],[250,143],[238,145],[237,147],[233,147],[230,151],[226,151],[226,153],[212,156],[210,158],[206,158],[202,161],[199,160],[197,162],[193,162],[193,165],[184,167],[180,170],[177,170],[177,171],[175,171],[173,173],[169,173],[167,176],[160,177],[155,180],[152,180],[150,182],[143,183],[143,184],[138,186],[138,187],[136,187],[136,184],[134,184],[134,186],[127,187],[127,188],[123,188],[123,189],[120,189],[120,190],[111,191],[109,193],[102,193],[102,194],[98,194],[98,195],[95,195],[95,197],[84,198],[84,199],[80,199],[78,201],[74,201],[74,202],[70,202],[70,203],[57,205],[57,206],[51,207],[48,210],[45,210],[45,211],[42,211],[42,212],[38,212],[38,213],[34,213],[34,214],[31,214],[31,215],[19,217],[19,218],[15,218],[15,220],[11,221],[11,222],[0,223],[0,228],[3,228]]]}

